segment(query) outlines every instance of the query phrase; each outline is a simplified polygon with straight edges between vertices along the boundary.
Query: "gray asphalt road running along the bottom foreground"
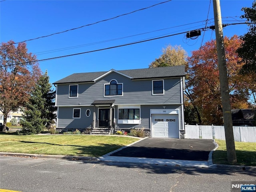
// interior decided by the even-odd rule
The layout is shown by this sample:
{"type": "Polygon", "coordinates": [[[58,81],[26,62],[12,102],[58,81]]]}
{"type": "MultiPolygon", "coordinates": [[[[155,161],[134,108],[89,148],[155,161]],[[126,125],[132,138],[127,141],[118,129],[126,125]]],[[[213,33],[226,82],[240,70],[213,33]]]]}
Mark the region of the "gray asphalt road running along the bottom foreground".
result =
{"type": "Polygon", "coordinates": [[[256,172],[0,156],[0,189],[22,192],[228,192],[256,172]]]}

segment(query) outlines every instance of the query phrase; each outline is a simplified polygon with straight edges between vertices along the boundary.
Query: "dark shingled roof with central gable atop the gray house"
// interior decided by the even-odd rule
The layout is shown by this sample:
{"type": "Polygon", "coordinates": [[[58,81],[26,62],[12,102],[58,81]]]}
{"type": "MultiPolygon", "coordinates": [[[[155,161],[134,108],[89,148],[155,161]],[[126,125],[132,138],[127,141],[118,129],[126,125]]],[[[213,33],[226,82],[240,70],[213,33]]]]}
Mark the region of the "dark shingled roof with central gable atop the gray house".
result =
{"type": "Polygon", "coordinates": [[[82,82],[95,82],[96,80],[112,73],[117,72],[123,76],[126,76],[132,80],[148,79],[148,78],[170,78],[185,76],[185,66],[170,66],[170,67],[158,67],[158,68],[144,68],[144,69],[131,69],[131,70],[109,70],[105,72],[88,72],[88,73],[74,73],[61,80],[54,82],[53,84],[65,84],[65,83],[82,83],[82,82]]]}

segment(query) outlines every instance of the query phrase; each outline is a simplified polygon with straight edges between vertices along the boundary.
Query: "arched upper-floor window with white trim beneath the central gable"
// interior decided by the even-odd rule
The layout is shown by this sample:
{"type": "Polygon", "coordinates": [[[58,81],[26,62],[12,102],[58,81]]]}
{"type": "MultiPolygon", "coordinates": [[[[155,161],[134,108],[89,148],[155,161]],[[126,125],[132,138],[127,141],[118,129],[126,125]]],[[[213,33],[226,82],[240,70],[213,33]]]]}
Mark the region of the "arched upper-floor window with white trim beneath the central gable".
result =
{"type": "Polygon", "coordinates": [[[111,80],[109,84],[104,84],[104,96],[122,96],[123,84],[116,80],[111,80]]]}

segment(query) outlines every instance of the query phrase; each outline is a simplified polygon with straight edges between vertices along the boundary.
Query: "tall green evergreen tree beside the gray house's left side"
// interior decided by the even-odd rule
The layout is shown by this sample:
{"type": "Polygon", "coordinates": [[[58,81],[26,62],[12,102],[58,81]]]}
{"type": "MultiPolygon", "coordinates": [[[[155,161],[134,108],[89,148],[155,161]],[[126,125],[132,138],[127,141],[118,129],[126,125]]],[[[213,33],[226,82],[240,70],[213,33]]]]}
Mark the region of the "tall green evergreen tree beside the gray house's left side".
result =
{"type": "Polygon", "coordinates": [[[24,110],[24,118],[21,120],[22,130],[19,134],[38,134],[49,128],[53,120],[56,118],[54,111],[55,92],[49,83],[49,76],[47,71],[42,75],[30,97],[29,102],[26,104],[24,110]]]}

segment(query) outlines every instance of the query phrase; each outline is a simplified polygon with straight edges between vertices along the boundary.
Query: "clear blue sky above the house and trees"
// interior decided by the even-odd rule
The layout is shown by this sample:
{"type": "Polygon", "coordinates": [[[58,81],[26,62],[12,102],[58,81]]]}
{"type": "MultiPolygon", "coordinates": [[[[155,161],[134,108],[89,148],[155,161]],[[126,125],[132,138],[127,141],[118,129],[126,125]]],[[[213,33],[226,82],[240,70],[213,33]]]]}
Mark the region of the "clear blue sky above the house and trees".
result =
{"type": "MultiPolygon", "coordinates": [[[[92,24],[158,4],[160,0],[4,0],[0,2],[0,42],[21,42],[92,24]]],[[[242,7],[253,0],[220,0],[223,24],[244,22],[242,7]]],[[[28,41],[28,52],[38,60],[118,46],[214,25],[212,0],[172,0],[116,19],[77,30],[28,41]],[[210,9],[209,9],[210,7],[210,9]],[[209,13],[208,13],[209,12],[209,13]],[[208,22],[206,24],[206,20],[208,22]],[[158,30],[158,31],[156,31],[158,30]],[[155,31],[155,32],[153,32],[155,31]],[[140,34],[140,35],[138,35],[140,34]],[[130,37],[129,37],[130,36],[130,37]],[[63,50],[64,49],[64,50],[63,50]]],[[[226,26],[224,36],[243,35],[246,24],[226,26]]],[[[180,45],[188,55],[201,44],[215,39],[207,30],[195,40],[186,34],[77,56],[40,62],[50,83],[70,74],[148,68],[168,45],[180,45]]]]}

